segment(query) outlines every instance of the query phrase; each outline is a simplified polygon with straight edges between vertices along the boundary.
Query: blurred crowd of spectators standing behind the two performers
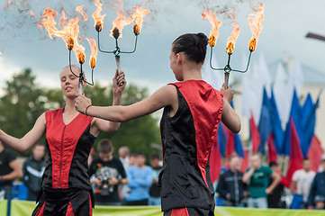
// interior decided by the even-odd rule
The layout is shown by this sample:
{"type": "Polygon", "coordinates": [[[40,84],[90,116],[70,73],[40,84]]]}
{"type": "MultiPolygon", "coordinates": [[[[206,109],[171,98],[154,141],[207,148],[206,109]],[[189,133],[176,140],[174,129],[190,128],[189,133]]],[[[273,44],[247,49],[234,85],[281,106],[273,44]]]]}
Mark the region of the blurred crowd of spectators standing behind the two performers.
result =
{"type": "MultiPolygon", "coordinates": [[[[162,161],[159,155],[152,154],[148,166],[142,152],[133,154],[127,147],[118,149],[119,157],[113,157],[113,152],[113,143],[102,139],[88,158],[95,203],[160,205],[158,175],[162,161]]],[[[0,142],[0,200],[13,199],[14,180],[20,179],[28,188],[26,199],[36,201],[46,166],[44,155],[45,146],[35,145],[22,168],[14,153],[0,142]]],[[[294,172],[291,183],[281,175],[281,167],[276,162],[264,166],[261,157],[255,154],[250,157],[250,165],[242,173],[239,171],[239,157],[232,156],[228,161],[229,168],[221,168],[219,180],[215,183],[218,206],[324,209],[325,159],[321,161],[321,171],[316,174],[311,170],[311,161],[305,158],[302,169],[294,172]]]]}

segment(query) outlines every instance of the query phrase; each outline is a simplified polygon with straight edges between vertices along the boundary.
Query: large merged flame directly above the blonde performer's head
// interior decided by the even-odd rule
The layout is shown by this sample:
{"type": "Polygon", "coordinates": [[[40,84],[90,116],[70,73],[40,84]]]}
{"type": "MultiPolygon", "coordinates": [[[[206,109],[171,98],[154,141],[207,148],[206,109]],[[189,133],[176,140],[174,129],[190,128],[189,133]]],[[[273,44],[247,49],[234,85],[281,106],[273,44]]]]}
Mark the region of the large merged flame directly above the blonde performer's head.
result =
{"type": "MultiPolygon", "coordinates": [[[[64,40],[64,42],[66,43],[67,48],[69,50],[74,49],[78,62],[80,64],[83,64],[85,62],[85,58],[86,58],[85,48],[83,46],[79,45],[78,40],[77,40],[78,33],[79,33],[78,22],[82,18],[77,17],[75,19],[71,19],[68,21],[68,23],[66,23],[63,26],[62,30],[58,30],[56,27],[57,22],[54,20],[54,18],[57,16],[58,16],[58,13],[56,11],[54,11],[50,7],[46,8],[44,11],[44,14],[42,15],[42,17],[44,17],[44,18],[41,20],[40,23],[48,31],[50,39],[52,39],[52,35],[55,35],[55,36],[61,38],[62,40],[64,40]]],[[[62,13],[61,18],[62,17],[64,17],[63,13],[62,13]]]]}

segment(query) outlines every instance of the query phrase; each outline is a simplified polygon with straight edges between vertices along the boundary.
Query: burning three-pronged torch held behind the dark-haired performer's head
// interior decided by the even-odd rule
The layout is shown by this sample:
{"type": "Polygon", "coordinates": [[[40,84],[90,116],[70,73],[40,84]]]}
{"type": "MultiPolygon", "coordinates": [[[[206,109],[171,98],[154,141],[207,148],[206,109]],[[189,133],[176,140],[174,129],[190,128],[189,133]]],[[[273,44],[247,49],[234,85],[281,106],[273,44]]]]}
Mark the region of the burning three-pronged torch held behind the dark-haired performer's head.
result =
{"type": "MultiPolygon", "coordinates": [[[[232,69],[230,67],[231,54],[233,53],[233,50],[235,49],[235,43],[239,36],[239,31],[240,31],[239,25],[237,23],[232,23],[232,25],[234,26],[234,29],[227,41],[227,47],[226,47],[226,53],[228,54],[227,65],[223,68],[212,67],[213,47],[214,47],[215,42],[219,36],[219,27],[221,26],[221,21],[218,21],[218,19],[216,18],[216,15],[210,10],[206,10],[202,14],[203,19],[206,18],[210,23],[212,23],[212,31],[211,31],[210,37],[209,37],[209,45],[211,47],[210,67],[212,67],[213,70],[223,70],[224,71],[224,79],[225,79],[225,83],[226,83],[226,88],[228,88],[228,85],[229,85],[229,76],[230,76],[231,71],[235,71],[235,72],[239,72],[239,73],[246,73],[248,71],[251,54],[256,49],[258,35],[262,31],[261,22],[264,20],[264,5],[260,4],[260,3],[257,3],[257,4],[259,5],[259,8],[257,10],[253,9],[256,13],[249,14],[249,16],[248,16],[248,22],[249,22],[250,30],[253,33],[253,36],[252,36],[251,40],[249,41],[248,65],[245,70],[232,69]]],[[[235,20],[235,16],[232,13],[233,13],[233,10],[230,12],[230,16],[231,16],[232,20],[235,20]]]]}

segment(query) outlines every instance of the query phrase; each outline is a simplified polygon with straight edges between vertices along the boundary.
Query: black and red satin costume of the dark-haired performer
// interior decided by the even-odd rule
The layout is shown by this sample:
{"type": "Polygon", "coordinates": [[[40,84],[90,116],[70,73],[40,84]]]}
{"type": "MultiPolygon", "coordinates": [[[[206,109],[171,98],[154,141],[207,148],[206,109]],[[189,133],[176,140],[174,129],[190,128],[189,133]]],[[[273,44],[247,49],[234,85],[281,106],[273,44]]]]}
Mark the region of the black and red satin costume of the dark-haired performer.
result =
{"type": "Polygon", "coordinates": [[[160,121],[161,209],[168,216],[213,215],[209,155],[221,121],[223,95],[203,80],[170,85],[176,86],[178,110],[170,117],[166,107],[160,121]]]}

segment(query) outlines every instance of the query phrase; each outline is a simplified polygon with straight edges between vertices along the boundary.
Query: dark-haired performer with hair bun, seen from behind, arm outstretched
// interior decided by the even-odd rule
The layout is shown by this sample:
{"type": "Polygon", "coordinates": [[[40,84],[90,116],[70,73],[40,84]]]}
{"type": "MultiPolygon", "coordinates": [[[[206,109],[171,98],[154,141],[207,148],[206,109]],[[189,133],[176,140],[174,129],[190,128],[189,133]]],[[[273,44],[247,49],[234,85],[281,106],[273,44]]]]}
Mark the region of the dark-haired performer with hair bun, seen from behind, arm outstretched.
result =
{"type": "Polygon", "coordinates": [[[208,38],[184,34],[172,44],[170,67],[176,82],[129,106],[98,107],[77,94],[77,111],[109,121],[129,121],[165,108],[160,121],[164,166],[159,175],[161,208],[166,216],[214,215],[209,155],[219,122],[239,132],[239,116],[231,108],[233,92],[221,92],[202,80],[208,38]]]}

